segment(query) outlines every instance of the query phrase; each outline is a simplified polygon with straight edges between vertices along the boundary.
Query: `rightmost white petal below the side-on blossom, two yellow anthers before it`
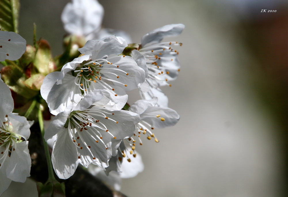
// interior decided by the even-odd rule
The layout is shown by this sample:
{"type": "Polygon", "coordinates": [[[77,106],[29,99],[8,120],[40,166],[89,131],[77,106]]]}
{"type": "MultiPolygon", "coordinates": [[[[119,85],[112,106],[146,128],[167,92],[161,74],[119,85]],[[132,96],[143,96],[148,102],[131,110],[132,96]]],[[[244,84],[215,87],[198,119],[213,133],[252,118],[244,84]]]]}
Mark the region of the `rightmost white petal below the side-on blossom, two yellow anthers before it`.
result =
{"type": "Polygon", "coordinates": [[[141,121],[145,121],[155,128],[165,128],[174,126],[179,121],[179,114],[170,108],[164,107],[148,107],[144,113],[140,115],[141,121]],[[160,115],[160,117],[157,117],[160,115]]]}

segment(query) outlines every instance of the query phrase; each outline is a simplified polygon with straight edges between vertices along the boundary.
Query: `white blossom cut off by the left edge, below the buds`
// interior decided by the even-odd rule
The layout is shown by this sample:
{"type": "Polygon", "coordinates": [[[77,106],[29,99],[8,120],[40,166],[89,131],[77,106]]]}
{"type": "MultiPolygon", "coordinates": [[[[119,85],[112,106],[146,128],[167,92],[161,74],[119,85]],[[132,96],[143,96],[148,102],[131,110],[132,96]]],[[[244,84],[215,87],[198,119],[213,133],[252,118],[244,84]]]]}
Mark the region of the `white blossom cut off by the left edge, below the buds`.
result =
{"type": "MultiPolygon", "coordinates": [[[[1,75],[0,75],[1,77],[1,75]]],[[[30,177],[31,158],[27,139],[30,123],[25,117],[12,113],[14,108],[10,89],[0,79],[0,195],[11,181],[26,181],[30,177]]]]}

